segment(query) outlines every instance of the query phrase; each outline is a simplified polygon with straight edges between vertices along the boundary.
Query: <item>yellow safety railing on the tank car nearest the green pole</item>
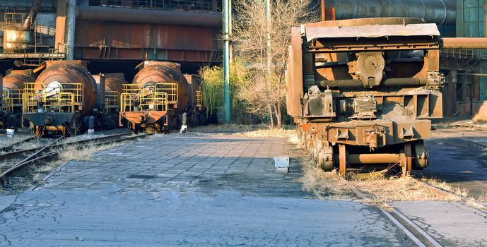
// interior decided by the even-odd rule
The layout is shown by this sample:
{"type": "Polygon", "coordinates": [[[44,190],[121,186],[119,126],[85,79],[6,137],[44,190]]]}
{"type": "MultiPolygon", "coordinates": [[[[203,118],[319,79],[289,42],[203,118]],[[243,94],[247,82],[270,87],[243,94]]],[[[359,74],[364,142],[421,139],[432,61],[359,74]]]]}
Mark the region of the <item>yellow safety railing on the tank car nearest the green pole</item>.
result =
{"type": "Polygon", "coordinates": [[[169,104],[177,104],[177,83],[156,83],[144,88],[137,84],[124,84],[122,87],[122,112],[167,111],[169,104]]]}

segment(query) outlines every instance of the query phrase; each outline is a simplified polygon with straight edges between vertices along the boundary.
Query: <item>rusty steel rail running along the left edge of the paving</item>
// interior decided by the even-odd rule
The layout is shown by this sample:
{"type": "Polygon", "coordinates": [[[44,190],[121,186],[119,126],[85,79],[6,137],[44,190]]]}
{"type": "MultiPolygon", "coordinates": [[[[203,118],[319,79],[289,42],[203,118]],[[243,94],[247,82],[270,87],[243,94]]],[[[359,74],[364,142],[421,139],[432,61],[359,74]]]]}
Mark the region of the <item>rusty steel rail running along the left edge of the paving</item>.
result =
{"type": "Polygon", "coordinates": [[[37,155],[39,155],[44,150],[49,150],[50,148],[52,148],[54,146],[59,146],[59,145],[54,145],[54,143],[56,143],[58,140],[61,139],[61,138],[59,138],[59,139],[55,140],[54,142],[49,143],[48,145],[45,145],[44,147],[40,147],[39,150],[37,150],[37,152],[35,152],[33,155],[30,155],[29,157],[27,157],[27,158],[23,159],[22,161],[18,162],[17,164],[15,164],[13,167],[11,167],[11,168],[7,169],[6,171],[4,171],[3,173],[1,173],[0,174],[0,182],[4,183],[6,176],[11,174],[13,171],[16,171],[22,167],[25,167],[28,164],[32,164],[34,162],[38,162],[41,160],[50,159],[52,157],[55,157],[55,156],[59,155],[61,152],[63,152],[64,150],[68,150],[69,148],[72,148],[72,147],[88,147],[88,146],[94,146],[94,145],[105,145],[105,144],[109,144],[109,143],[121,142],[124,140],[144,138],[144,137],[146,137],[148,135],[152,135],[152,134],[145,133],[142,135],[131,135],[131,133],[130,133],[131,136],[128,136],[128,137],[124,137],[124,135],[127,135],[127,134],[108,135],[108,136],[103,136],[101,138],[93,138],[93,139],[88,139],[88,140],[78,140],[78,141],[74,141],[74,142],[70,142],[70,143],[62,143],[59,145],[64,146],[66,148],[64,148],[62,150],[55,150],[52,152],[48,152],[45,155],[42,155],[40,157],[36,157],[37,155]],[[112,139],[114,137],[115,137],[115,139],[112,139]],[[104,140],[104,139],[105,139],[105,141],[93,143],[93,140],[104,140]],[[108,140],[106,140],[106,139],[108,139],[108,140]],[[75,144],[79,144],[79,143],[81,143],[81,145],[75,145],[75,144]]]}

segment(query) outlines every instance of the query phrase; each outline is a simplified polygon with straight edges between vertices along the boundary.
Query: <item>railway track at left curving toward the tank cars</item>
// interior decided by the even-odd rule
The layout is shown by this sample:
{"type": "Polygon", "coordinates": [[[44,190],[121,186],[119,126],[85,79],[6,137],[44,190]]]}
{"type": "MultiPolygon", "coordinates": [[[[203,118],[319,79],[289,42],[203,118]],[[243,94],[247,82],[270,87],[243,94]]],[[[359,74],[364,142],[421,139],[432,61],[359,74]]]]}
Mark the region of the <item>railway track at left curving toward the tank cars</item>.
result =
{"type": "MultiPolygon", "coordinates": [[[[0,169],[1,172],[0,182],[5,183],[6,178],[10,176],[14,171],[18,171],[19,169],[22,169],[23,167],[26,167],[30,164],[35,164],[36,162],[46,162],[49,159],[54,159],[61,152],[70,148],[100,146],[100,145],[106,145],[110,143],[118,143],[127,140],[134,140],[136,138],[144,138],[148,135],[151,134],[145,133],[141,135],[133,135],[131,133],[122,133],[122,134],[115,134],[115,135],[106,135],[98,138],[90,138],[85,140],[74,140],[67,143],[61,143],[61,139],[63,139],[63,137],[61,137],[42,147],[33,147],[24,150],[6,152],[0,155],[0,162],[5,162],[6,160],[19,159],[19,158],[23,158],[23,159],[15,162],[15,164],[13,164],[12,166],[4,167],[0,169]]],[[[19,143],[25,142],[26,140],[23,140],[19,143]]],[[[14,145],[17,144],[18,143],[15,143],[14,145]]]]}

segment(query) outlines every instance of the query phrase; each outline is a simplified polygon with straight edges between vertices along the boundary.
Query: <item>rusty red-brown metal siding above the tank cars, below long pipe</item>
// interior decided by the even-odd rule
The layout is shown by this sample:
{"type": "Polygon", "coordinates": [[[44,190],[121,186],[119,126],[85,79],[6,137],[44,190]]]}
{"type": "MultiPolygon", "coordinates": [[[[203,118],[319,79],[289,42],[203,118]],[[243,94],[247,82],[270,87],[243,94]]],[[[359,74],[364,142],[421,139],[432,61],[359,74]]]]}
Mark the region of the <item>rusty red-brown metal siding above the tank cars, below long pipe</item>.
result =
{"type": "Polygon", "coordinates": [[[78,20],[76,57],[216,62],[219,33],[211,27],[78,20]]]}

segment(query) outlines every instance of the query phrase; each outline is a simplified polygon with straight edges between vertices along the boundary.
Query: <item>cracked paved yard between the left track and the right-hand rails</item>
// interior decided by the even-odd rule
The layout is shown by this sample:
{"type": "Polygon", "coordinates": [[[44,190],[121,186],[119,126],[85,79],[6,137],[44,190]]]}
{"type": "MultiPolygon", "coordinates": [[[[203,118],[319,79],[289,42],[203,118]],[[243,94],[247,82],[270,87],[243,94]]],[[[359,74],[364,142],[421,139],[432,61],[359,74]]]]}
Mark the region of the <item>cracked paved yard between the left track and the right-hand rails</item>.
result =
{"type": "Polygon", "coordinates": [[[0,208],[0,246],[409,245],[375,207],[303,193],[297,164],[276,173],[283,143],[162,135],[69,162],[0,208]]]}

